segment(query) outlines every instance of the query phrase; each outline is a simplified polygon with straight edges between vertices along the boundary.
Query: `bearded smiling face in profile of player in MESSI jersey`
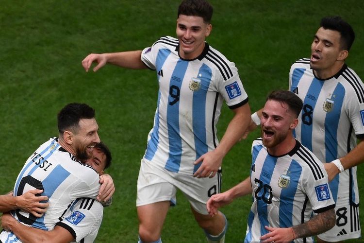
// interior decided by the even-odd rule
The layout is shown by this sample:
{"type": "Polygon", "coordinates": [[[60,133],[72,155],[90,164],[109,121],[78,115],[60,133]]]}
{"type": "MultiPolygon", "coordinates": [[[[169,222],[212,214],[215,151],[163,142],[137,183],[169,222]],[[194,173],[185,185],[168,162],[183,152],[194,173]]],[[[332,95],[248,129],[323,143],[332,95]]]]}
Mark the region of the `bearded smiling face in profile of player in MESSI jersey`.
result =
{"type": "Polygon", "coordinates": [[[72,146],[78,160],[85,160],[87,152],[90,153],[92,148],[100,142],[98,130],[99,125],[94,118],[80,120],[79,129],[77,132],[72,133],[72,146]]]}

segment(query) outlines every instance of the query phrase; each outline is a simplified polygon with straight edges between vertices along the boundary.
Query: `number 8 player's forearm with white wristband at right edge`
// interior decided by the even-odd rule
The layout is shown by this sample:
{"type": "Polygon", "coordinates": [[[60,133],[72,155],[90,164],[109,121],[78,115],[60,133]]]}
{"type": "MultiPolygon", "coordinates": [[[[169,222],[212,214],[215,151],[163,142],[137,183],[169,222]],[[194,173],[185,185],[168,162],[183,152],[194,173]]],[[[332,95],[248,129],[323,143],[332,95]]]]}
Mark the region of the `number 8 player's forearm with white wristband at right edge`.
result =
{"type": "Polygon", "coordinates": [[[334,163],[324,164],[325,170],[329,175],[329,181],[331,181],[341,171],[357,166],[363,163],[363,161],[364,161],[364,139],[360,140],[358,145],[353,150],[351,150],[346,156],[339,158],[338,161],[336,160],[336,162],[334,163]],[[335,163],[337,163],[337,165],[335,165],[335,163]],[[341,171],[339,170],[339,168],[341,168],[341,171]]]}

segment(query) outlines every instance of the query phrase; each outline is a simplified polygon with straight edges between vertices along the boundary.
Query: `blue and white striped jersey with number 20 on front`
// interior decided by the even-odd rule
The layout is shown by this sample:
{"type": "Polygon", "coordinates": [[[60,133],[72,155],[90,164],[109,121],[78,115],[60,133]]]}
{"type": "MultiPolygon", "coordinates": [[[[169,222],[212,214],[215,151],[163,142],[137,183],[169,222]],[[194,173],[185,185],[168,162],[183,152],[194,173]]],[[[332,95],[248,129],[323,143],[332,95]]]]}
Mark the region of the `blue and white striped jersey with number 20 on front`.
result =
{"type": "Polygon", "coordinates": [[[253,204],[245,242],[260,242],[259,238],[268,233],[264,226],[299,225],[309,221],[313,211],[334,208],[322,163],[297,140],[295,148],[282,156],[269,155],[261,139],[253,141],[251,151],[253,204]]]}

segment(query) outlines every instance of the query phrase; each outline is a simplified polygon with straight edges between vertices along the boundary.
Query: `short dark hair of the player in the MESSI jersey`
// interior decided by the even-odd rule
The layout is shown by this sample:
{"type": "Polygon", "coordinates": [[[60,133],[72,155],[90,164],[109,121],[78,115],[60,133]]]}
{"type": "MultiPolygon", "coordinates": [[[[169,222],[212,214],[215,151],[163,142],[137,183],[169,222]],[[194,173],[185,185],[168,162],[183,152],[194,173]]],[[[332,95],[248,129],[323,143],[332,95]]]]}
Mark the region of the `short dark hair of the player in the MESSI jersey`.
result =
{"type": "Polygon", "coordinates": [[[67,129],[77,130],[81,119],[95,118],[95,110],[88,104],[70,103],[58,113],[58,131],[63,134],[67,129]]]}

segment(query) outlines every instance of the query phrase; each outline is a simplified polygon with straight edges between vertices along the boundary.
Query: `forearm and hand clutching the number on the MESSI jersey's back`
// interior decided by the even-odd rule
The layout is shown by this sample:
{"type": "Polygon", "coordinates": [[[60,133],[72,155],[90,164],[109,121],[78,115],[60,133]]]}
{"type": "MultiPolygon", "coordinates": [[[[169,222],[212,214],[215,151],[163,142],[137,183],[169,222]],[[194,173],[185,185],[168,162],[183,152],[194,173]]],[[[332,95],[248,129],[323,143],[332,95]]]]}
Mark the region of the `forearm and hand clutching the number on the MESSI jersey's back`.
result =
{"type": "Polygon", "coordinates": [[[46,212],[48,203],[41,203],[41,201],[47,201],[47,196],[37,196],[41,194],[43,190],[30,190],[20,196],[13,196],[13,192],[9,192],[6,195],[0,195],[0,211],[7,212],[13,209],[20,208],[23,211],[32,213],[35,217],[41,217],[46,212]]]}

